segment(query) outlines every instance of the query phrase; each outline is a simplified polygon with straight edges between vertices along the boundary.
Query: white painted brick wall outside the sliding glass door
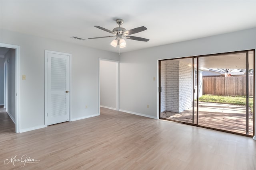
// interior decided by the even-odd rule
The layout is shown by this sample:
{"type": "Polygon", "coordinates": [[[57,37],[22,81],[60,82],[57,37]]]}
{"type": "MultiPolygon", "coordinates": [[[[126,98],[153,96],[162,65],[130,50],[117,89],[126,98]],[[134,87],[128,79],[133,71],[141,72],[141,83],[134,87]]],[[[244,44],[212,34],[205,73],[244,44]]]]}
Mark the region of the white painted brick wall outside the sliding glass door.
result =
{"type": "Polygon", "coordinates": [[[188,64],[176,60],[161,63],[161,86],[161,112],[181,112],[192,106],[192,68],[188,64]]]}

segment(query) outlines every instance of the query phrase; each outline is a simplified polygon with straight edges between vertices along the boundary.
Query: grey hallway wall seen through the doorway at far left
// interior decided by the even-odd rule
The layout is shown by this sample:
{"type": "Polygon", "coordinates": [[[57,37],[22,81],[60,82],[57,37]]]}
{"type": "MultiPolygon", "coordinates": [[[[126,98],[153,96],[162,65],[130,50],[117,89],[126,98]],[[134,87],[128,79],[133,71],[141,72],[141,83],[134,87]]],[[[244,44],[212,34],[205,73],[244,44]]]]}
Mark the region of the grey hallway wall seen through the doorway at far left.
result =
{"type": "Polygon", "coordinates": [[[6,111],[15,122],[15,49],[4,55],[6,63],[6,111]]]}

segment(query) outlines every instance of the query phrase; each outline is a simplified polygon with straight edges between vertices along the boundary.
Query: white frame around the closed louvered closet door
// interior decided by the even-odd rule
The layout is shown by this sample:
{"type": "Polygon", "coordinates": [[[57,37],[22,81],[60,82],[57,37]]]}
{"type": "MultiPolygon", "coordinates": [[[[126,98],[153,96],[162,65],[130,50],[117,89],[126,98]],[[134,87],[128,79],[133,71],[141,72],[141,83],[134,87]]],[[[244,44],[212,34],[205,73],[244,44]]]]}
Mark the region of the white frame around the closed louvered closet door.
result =
{"type": "Polygon", "coordinates": [[[72,90],[71,90],[71,57],[72,57],[72,54],[70,53],[62,53],[62,52],[57,52],[57,51],[50,51],[50,50],[45,50],[45,53],[44,53],[44,125],[45,127],[48,126],[47,124],[47,102],[48,102],[48,95],[47,95],[47,86],[48,86],[48,82],[47,82],[47,78],[48,78],[48,53],[54,53],[54,54],[60,54],[60,55],[68,55],[68,58],[69,58],[69,121],[71,121],[71,94],[72,94],[72,90]]]}

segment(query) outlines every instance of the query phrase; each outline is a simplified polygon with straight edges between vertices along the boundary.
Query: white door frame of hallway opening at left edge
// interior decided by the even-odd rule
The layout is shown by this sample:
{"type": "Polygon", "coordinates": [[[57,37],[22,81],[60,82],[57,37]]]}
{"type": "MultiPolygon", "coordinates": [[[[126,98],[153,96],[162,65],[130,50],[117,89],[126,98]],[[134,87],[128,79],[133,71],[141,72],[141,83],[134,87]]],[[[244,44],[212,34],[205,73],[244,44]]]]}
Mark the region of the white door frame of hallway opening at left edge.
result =
{"type": "Polygon", "coordinates": [[[20,46],[0,43],[0,47],[15,49],[15,132],[20,133],[20,46]]]}

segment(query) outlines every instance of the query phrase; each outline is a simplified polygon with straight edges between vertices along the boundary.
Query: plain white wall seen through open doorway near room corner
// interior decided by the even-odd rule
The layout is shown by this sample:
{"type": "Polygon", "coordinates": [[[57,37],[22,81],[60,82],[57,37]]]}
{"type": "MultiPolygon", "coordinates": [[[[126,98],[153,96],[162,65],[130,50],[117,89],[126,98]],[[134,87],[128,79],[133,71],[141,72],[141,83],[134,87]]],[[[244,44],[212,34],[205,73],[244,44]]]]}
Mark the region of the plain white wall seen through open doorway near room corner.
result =
{"type": "Polygon", "coordinates": [[[116,109],[116,62],[100,60],[100,106],[116,109]]]}

